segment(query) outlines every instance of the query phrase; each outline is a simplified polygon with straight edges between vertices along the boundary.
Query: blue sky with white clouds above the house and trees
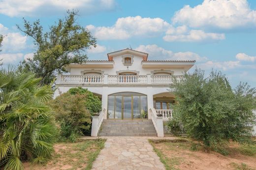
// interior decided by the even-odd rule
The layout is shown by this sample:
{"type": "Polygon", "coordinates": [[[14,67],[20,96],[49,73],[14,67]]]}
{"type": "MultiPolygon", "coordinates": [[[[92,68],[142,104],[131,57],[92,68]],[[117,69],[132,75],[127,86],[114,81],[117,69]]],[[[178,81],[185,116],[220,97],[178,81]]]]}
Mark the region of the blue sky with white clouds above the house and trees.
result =
{"type": "Polygon", "coordinates": [[[256,87],[256,0],[0,0],[3,62],[32,57],[32,40],[16,28],[23,17],[40,19],[47,31],[67,9],[78,9],[77,22],[97,38],[89,59],[131,46],[150,60],[196,60],[232,86],[256,87]]]}

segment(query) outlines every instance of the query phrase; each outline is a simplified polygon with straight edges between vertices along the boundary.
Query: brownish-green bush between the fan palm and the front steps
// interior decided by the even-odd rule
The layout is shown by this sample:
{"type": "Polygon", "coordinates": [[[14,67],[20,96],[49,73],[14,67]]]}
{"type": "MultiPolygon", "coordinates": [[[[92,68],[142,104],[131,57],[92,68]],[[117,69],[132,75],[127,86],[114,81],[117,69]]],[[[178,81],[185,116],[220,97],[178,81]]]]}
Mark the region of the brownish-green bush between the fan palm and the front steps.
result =
{"type": "Polygon", "coordinates": [[[86,95],[64,93],[49,102],[61,125],[61,141],[75,142],[83,130],[91,127],[91,114],[85,107],[86,95]]]}

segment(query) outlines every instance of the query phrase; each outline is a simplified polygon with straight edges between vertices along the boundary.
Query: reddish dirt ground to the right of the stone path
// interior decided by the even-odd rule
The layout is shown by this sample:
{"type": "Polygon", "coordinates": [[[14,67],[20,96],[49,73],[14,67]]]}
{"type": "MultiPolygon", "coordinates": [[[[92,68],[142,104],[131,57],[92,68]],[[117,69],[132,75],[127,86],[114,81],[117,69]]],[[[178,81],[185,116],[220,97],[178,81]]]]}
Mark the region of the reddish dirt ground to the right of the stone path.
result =
{"type": "MultiPolygon", "coordinates": [[[[188,143],[152,143],[160,151],[169,169],[180,170],[254,170],[256,156],[231,152],[228,156],[204,150],[192,151],[188,143]]],[[[234,147],[234,146],[230,146],[234,147]]],[[[168,168],[167,168],[168,169],[168,168]]]]}

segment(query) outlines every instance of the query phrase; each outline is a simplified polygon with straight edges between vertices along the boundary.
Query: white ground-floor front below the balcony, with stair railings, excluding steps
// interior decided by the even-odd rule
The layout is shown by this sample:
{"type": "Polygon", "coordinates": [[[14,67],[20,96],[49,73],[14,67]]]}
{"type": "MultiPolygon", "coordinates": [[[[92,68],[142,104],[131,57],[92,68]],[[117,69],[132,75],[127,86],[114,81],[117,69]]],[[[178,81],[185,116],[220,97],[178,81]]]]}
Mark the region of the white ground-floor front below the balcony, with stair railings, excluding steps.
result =
{"type": "MultiPolygon", "coordinates": [[[[68,91],[70,88],[72,86],[59,87],[55,96],[58,96],[60,92],[68,91]]],[[[99,126],[103,120],[143,119],[152,120],[158,136],[163,136],[163,128],[160,126],[162,126],[162,121],[171,117],[172,107],[175,103],[175,97],[169,91],[168,86],[85,86],[83,88],[93,92],[102,101],[102,111],[93,117],[92,136],[98,135],[99,126]]],[[[144,122],[144,124],[147,123],[144,122]]]]}

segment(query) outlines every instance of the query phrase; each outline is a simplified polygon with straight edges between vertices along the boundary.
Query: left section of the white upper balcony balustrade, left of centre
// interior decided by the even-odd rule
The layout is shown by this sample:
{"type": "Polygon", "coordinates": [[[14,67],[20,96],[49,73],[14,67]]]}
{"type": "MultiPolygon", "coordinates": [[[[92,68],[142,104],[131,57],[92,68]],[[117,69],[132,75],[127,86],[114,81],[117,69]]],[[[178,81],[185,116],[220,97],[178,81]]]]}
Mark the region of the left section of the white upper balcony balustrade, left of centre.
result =
{"type": "Polygon", "coordinates": [[[62,75],[60,83],[67,84],[102,84],[104,76],[101,75],[62,75]]]}

